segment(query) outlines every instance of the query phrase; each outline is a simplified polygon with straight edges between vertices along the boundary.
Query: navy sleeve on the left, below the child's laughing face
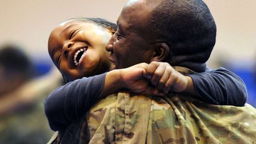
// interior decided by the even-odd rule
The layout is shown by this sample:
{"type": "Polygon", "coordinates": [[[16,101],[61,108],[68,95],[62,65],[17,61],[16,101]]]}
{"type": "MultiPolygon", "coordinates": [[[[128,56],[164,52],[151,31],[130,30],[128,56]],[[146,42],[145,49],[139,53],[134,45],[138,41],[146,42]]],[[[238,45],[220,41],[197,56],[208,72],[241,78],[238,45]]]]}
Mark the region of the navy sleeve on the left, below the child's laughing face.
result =
{"type": "Polygon", "coordinates": [[[52,130],[64,129],[72,121],[81,118],[100,99],[105,75],[76,79],[55,89],[44,100],[44,112],[52,130]]]}

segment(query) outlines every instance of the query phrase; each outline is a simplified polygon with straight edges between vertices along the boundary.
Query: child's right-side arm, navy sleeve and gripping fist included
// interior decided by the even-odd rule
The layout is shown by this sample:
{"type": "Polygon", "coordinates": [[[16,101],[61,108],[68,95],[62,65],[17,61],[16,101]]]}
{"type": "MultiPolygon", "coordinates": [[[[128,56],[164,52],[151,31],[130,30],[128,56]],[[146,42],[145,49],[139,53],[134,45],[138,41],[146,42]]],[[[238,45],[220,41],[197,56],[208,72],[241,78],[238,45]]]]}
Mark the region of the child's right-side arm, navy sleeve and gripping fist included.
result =
{"type": "Polygon", "coordinates": [[[242,106],[247,101],[244,82],[224,68],[184,76],[169,63],[151,62],[147,68],[152,84],[165,93],[184,92],[210,104],[242,106]]]}

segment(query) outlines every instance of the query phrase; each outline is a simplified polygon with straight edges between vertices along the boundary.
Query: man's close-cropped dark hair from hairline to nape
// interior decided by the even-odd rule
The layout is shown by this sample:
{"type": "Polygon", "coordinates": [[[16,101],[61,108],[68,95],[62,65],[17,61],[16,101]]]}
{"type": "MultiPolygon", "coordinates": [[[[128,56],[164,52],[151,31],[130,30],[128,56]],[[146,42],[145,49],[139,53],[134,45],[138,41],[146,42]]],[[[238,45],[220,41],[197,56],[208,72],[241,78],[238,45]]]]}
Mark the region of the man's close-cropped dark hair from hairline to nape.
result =
{"type": "Polygon", "coordinates": [[[215,45],[215,21],[201,0],[162,0],[148,25],[166,40],[170,54],[165,62],[171,65],[197,70],[193,67],[205,63],[215,45]]]}

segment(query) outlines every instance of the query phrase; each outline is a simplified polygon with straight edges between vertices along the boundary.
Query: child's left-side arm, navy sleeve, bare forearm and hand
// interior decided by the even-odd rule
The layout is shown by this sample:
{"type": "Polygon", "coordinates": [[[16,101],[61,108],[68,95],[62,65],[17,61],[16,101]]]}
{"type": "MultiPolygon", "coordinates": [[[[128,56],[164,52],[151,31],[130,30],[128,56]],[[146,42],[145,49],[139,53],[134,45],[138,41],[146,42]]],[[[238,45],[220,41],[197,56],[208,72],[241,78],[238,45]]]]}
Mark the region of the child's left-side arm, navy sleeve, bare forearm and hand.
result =
{"type": "Polygon", "coordinates": [[[161,95],[144,78],[146,63],[117,69],[89,78],[76,79],[55,89],[44,101],[44,111],[52,130],[65,128],[81,118],[104,95],[127,88],[133,92],[161,95]]]}

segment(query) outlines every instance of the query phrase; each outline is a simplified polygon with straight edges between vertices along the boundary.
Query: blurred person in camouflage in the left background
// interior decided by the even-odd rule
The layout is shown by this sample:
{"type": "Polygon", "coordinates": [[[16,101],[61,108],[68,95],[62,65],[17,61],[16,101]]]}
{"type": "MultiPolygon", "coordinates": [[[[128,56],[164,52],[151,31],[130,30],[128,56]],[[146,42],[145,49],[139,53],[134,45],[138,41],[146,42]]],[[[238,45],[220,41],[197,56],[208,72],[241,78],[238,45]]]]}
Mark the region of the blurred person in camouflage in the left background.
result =
{"type": "Polygon", "coordinates": [[[0,143],[46,143],[53,135],[43,99],[61,84],[61,76],[53,69],[36,77],[34,64],[20,47],[0,47],[0,143]]]}

